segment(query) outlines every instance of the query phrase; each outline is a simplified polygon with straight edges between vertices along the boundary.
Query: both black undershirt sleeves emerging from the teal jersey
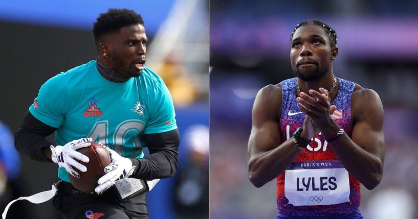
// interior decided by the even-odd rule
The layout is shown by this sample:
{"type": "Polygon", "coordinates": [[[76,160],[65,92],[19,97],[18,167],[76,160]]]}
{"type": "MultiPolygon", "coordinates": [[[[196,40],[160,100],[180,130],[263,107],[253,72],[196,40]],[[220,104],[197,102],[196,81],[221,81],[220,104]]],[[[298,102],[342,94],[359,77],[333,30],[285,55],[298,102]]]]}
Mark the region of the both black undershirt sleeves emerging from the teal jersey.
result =
{"type": "MultiPolygon", "coordinates": [[[[45,137],[55,132],[57,128],[48,126],[29,111],[15,134],[15,148],[19,153],[28,155],[31,159],[51,162],[42,152],[42,148],[50,147],[51,142],[45,137]]],[[[149,150],[149,156],[141,159],[129,158],[136,166],[132,178],[143,180],[167,178],[174,175],[179,164],[179,132],[177,129],[144,135],[144,141],[149,150]]]]}

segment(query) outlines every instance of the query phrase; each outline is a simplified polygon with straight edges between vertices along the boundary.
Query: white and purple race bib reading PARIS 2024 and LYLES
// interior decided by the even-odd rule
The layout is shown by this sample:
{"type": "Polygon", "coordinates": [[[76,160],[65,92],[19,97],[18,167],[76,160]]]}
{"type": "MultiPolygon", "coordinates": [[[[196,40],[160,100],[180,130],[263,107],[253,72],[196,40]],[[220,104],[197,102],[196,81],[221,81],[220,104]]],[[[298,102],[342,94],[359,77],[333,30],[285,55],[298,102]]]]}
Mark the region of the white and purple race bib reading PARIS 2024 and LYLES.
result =
{"type": "Polygon", "coordinates": [[[339,160],[292,162],[285,172],[284,196],[295,206],[349,202],[348,172],[339,160]]]}

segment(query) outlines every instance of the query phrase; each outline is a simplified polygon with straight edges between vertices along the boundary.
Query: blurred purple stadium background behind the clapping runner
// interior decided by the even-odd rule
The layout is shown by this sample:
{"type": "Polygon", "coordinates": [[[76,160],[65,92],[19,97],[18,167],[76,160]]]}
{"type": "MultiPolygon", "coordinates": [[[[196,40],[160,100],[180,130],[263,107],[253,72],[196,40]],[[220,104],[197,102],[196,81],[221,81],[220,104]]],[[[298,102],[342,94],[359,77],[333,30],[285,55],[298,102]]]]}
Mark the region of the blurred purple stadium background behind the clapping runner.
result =
{"type": "MultiPolygon", "coordinates": [[[[294,77],[298,22],[337,31],[337,77],[376,90],[385,110],[383,179],[362,188],[364,218],[418,218],[418,2],[210,1],[210,217],[275,218],[275,180],[248,180],[247,143],[257,91],[294,77]]],[[[353,158],[356,162],[356,158],[353,158]]]]}

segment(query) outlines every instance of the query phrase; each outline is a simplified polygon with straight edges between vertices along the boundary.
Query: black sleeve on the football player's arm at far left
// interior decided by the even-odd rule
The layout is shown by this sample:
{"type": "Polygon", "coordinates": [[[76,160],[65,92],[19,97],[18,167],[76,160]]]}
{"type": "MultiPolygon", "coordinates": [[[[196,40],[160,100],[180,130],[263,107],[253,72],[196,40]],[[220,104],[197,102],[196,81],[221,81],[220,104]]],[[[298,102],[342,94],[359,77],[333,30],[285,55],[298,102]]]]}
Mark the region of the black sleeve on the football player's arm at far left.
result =
{"type": "Polygon", "coordinates": [[[42,148],[53,144],[45,137],[55,130],[57,129],[42,123],[28,111],[14,136],[15,148],[19,153],[26,154],[33,160],[52,162],[45,157],[42,148]]]}

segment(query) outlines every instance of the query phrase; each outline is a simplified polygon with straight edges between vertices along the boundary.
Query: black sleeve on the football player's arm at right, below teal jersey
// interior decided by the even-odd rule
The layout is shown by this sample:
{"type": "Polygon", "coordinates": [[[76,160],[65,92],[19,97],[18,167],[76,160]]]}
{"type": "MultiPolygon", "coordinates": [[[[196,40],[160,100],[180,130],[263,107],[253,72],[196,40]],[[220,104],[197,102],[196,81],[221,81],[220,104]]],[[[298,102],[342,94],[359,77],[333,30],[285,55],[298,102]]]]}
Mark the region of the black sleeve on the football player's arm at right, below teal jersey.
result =
{"type": "Polygon", "coordinates": [[[152,180],[174,175],[179,165],[179,131],[177,129],[144,136],[149,156],[130,159],[137,166],[131,178],[152,180]]]}

